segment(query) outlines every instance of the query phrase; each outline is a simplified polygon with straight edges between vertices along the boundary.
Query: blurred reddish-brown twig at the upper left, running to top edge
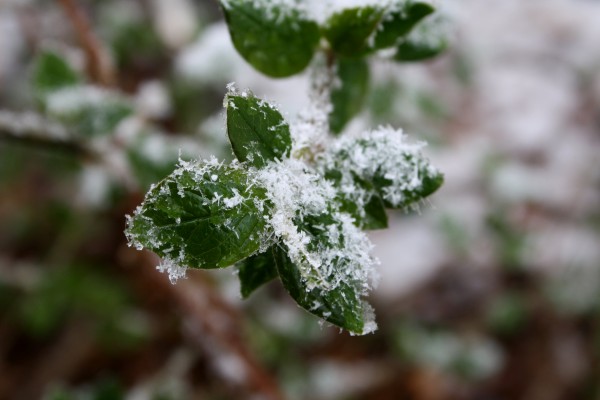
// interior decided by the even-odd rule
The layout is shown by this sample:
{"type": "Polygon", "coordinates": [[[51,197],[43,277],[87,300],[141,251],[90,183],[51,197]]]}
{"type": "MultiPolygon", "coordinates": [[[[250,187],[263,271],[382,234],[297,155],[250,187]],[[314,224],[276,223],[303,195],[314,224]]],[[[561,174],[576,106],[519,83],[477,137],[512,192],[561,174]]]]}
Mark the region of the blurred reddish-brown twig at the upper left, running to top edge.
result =
{"type": "Polygon", "coordinates": [[[90,78],[103,86],[115,83],[115,73],[110,64],[106,51],[96,39],[85,14],[77,6],[75,0],[58,0],[69,17],[77,32],[80,45],[86,56],[86,68],[90,78]]]}

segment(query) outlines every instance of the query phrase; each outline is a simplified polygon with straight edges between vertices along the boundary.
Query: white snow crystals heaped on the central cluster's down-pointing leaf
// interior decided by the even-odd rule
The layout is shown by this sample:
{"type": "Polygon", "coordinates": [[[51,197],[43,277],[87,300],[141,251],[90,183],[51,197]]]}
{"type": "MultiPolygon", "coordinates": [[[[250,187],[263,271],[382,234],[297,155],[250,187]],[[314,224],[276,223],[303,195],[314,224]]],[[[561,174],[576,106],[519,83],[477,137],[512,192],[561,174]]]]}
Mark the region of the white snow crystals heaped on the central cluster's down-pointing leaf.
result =
{"type": "MultiPolygon", "coordinates": [[[[366,295],[376,279],[378,261],[370,254],[366,234],[338,209],[332,183],[295,159],[268,164],[257,171],[256,180],[272,204],[267,222],[299,268],[307,290],[327,292],[346,284],[358,296],[366,295]]],[[[373,315],[368,304],[363,303],[363,309],[370,330],[373,315]]]]}

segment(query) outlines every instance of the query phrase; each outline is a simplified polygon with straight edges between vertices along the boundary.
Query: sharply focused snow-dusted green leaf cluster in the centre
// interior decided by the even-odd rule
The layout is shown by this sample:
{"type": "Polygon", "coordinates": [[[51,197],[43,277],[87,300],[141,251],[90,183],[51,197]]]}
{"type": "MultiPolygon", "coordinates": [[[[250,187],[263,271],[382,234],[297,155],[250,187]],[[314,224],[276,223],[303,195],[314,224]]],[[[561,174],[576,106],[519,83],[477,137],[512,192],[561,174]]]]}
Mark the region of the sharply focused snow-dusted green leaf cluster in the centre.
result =
{"type": "Polygon", "coordinates": [[[361,229],[387,226],[386,207],[414,205],[441,174],[387,132],[340,140],[312,164],[296,160],[277,108],[236,91],[225,105],[237,161],[181,162],[129,217],[130,243],[163,257],[172,278],[237,263],[244,297],[279,277],[307,311],[352,333],[374,330],[364,296],[375,260],[361,229]]]}

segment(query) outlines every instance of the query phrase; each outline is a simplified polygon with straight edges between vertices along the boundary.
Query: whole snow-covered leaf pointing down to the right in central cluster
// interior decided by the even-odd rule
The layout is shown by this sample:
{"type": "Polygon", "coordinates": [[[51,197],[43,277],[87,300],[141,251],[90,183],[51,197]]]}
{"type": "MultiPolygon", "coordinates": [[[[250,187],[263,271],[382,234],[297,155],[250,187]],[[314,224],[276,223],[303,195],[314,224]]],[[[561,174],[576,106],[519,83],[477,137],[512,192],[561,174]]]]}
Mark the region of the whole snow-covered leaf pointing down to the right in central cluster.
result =
{"type": "Polygon", "coordinates": [[[272,204],[268,223],[287,260],[277,256],[277,269],[290,295],[342,328],[369,331],[373,315],[362,298],[375,279],[377,261],[367,236],[339,209],[335,187],[291,159],[259,170],[258,180],[272,204]]]}

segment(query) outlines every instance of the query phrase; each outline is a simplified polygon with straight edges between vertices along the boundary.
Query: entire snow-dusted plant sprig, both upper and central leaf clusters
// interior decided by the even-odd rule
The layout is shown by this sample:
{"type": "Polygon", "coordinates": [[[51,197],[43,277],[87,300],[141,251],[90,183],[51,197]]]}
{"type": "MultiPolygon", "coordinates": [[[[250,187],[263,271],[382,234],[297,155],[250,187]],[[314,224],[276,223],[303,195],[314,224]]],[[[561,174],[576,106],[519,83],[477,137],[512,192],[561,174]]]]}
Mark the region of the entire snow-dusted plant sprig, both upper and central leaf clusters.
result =
{"type": "Polygon", "coordinates": [[[334,135],[360,111],[368,56],[419,61],[445,41],[427,40],[435,31],[428,3],[335,3],[323,18],[311,15],[310,2],[221,1],[234,46],[257,70],[285,77],[311,65],[312,104],[289,122],[229,85],[224,106],[237,160],[181,160],[128,216],[126,235],[161,256],[159,269],[173,282],[186,268],[237,263],[244,297],[279,278],[302,308],[365,334],[376,329],[365,297],[377,260],[364,230],[387,227],[386,208],[416,207],[443,177],[423,144],[401,131],[334,135]]]}

